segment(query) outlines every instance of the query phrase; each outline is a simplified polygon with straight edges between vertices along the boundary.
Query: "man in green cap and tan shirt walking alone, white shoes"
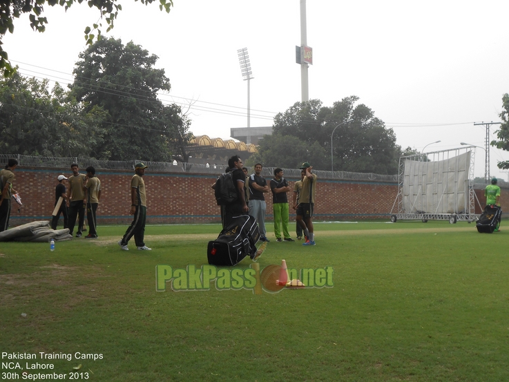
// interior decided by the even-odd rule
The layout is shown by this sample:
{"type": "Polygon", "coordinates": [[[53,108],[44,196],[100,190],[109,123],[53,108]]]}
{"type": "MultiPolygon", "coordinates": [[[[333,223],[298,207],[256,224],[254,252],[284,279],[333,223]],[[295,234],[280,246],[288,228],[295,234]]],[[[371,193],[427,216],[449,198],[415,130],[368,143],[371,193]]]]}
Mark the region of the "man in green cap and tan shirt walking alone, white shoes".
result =
{"type": "Polygon", "coordinates": [[[143,175],[147,168],[144,163],[137,163],[135,166],[135,175],[131,178],[131,211],[134,215],[133,222],[126,231],[124,237],[118,242],[120,248],[128,251],[127,243],[134,236],[136,247],[139,251],[151,251],[144,242],[145,221],[146,221],[146,193],[143,175]]]}

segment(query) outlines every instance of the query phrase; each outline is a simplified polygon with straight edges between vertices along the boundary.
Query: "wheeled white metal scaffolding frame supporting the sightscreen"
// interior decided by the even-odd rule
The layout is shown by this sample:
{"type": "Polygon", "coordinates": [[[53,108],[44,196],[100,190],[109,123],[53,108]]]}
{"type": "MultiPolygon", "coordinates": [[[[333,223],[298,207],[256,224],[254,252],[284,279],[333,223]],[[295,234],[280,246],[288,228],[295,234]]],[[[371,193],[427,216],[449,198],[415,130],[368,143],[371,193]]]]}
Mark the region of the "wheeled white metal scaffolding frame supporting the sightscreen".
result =
{"type": "MultiPolygon", "coordinates": [[[[479,215],[475,213],[475,205],[474,205],[474,162],[475,162],[475,146],[465,146],[457,149],[450,150],[442,150],[442,151],[433,151],[431,153],[421,153],[416,155],[407,155],[399,158],[398,164],[398,195],[396,195],[396,199],[394,200],[394,204],[391,209],[391,221],[396,222],[397,220],[422,220],[423,222],[427,222],[428,220],[449,220],[451,224],[457,222],[457,220],[463,220],[467,222],[475,221],[479,218],[479,215]],[[407,161],[416,161],[416,162],[441,162],[445,160],[454,160],[455,157],[459,157],[459,155],[470,153],[470,160],[468,161],[468,179],[465,180],[465,198],[463,201],[463,205],[458,204],[458,200],[453,200],[452,204],[454,205],[454,211],[451,213],[443,213],[439,212],[439,206],[443,203],[443,198],[445,195],[445,190],[448,189],[448,182],[451,182],[450,177],[443,176],[441,183],[442,193],[432,195],[428,195],[429,193],[425,192],[427,186],[429,186],[428,178],[419,174],[417,177],[419,178],[418,189],[416,194],[414,194],[414,200],[410,205],[405,207],[404,202],[404,194],[403,190],[408,185],[405,184],[405,162],[407,161]],[[445,187],[444,187],[445,184],[445,187]],[[435,211],[419,211],[417,209],[416,204],[423,204],[423,200],[427,201],[427,198],[438,198],[433,200],[433,205],[436,205],[435,211]],[[418,202],[421,201],[421,203],[418,202]]],[[[435,175],[435,173],[434,173],[435,175]]],[[[452,180],[454,182],[455,180],[452,180]]],[[[415,184],[412,184],[412,187],[415,187],[415,184]]],[[[448,198],[448,195],[445,195],[445,198],[448,198]]],[[[410,199],[410,198],[409,198],[410,199]]]]}

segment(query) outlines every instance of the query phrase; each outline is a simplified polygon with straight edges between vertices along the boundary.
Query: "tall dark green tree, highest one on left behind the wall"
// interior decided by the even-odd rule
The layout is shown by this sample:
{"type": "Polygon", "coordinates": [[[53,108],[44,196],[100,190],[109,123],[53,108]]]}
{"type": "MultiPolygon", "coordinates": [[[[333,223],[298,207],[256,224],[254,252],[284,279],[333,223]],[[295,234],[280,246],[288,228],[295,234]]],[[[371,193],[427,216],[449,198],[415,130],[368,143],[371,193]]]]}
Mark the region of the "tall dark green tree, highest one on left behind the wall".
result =
{"type": "Polygon", "coordinates": [[[171,151],[189,142],[189,121],[180,108],[164,107],[157,90],[170,90],[156,55],[132,41],[100,39],[79,55],[72,94],[89,108],[108,112],[104,142],[95,155],[104,160],[169,161],[171,151]]]}

